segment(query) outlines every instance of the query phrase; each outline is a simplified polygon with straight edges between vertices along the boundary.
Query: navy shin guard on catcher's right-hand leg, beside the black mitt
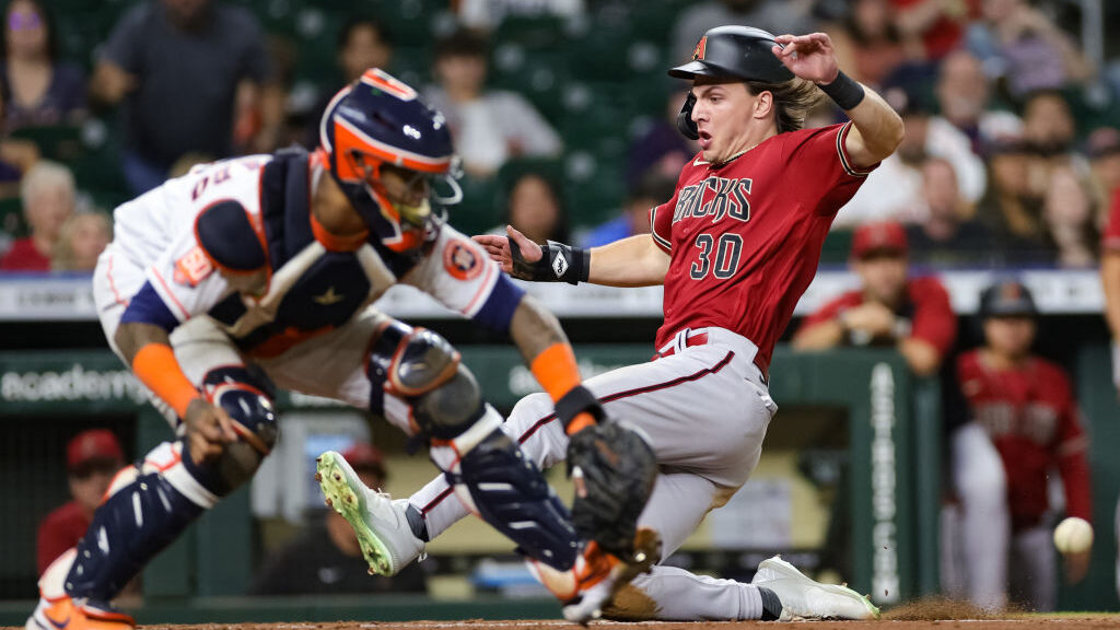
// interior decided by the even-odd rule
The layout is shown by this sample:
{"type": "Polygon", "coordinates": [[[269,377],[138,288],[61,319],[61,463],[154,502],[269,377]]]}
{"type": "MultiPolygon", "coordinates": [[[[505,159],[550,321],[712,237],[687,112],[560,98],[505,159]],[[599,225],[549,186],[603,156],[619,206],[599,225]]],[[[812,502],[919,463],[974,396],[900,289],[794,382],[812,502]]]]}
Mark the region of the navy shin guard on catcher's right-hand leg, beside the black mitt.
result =
{"type": "Polygon", "coordinates": [[[521,552],[557,571],[576,563],[579,537],[568,508],[560,501],[533,462],[514,441],[495,428],[463,454],[458,471],[447,476],[491,526],[517,544],[521,552]]]}

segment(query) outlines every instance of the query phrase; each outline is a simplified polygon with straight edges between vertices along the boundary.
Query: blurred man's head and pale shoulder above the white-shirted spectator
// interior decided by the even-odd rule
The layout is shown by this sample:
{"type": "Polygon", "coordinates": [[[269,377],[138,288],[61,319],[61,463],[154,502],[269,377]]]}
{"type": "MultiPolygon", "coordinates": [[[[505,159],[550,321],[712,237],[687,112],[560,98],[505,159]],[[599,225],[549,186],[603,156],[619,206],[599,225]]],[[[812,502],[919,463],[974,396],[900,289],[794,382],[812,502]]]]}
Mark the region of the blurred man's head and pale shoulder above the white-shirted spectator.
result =
{"type": "Polygon", "coordinates": [[[987,155],[997,137],[1023,133],[1019,117],[988,109],[990,92],[980,61],[968,50],[954,50],[941,62],[936,85],[941,119],[968,136],[979,156],[987,155]]]}

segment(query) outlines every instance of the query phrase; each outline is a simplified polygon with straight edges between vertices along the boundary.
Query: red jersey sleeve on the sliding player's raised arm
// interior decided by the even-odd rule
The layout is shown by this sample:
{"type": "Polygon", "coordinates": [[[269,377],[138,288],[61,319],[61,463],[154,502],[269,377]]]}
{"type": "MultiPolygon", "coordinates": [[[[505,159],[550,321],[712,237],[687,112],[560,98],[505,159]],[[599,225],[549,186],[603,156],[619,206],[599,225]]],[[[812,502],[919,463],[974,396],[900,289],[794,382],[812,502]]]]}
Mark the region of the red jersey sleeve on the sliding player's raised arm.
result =
{"type": "Polygon", "coordinates": [[[849,121],[785,135],[786,189],[815,214],[834,216],[879,166],[857,168],[852,164],[844,147],[850,130],[849,121]]]}

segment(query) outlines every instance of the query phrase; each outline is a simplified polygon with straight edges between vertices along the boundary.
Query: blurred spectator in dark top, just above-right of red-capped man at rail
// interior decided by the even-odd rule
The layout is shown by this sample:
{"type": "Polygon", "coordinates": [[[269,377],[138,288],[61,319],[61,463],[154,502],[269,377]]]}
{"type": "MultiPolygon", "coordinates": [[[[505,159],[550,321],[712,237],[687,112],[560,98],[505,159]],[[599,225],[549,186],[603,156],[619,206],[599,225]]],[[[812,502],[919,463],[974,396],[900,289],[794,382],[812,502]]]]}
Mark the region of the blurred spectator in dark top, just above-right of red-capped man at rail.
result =
{"type": "Polygon", "coordinates": [[[998,252],[991,231],[972,214],[961,197],[953,165],[942,158],[922,163],[922,200],[925,220],[906,228],[911,261],[931,267],[990,263],[998,252]]]}

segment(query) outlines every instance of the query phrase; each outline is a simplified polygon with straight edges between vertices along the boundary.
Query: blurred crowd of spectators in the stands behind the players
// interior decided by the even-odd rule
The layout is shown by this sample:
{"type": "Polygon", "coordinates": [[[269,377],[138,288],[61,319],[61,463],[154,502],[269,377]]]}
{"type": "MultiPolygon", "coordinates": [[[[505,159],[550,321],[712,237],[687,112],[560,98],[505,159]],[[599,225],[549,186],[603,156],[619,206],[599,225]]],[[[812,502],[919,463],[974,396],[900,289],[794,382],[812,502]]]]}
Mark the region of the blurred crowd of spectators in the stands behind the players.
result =
{"type": "MultiPolygon", "coordinates": [[[[829,33],[847,72],[883,92],[903,113],[904,145],[841,210],[834,229],[898,221],[906,226],[917,265],[1093,266],[1120,182],[1120,85],[1108,81],[1102,67],[1108,59],[1082,53],[1079,37],[1084,34],[1076,33],[1076,16],[1061,2],[662,0],[657,10],[664,13],[664,39],[653,41],[661,63],[632,64],[635,73],[646,68],[652,89],[643,98],[653,102],[619,112],[614,124],[618,137],[612,140],[629,148],[597,156],[600,161],[591,172],[592,178],[623,182],[613,188],[615,196],[594,200],[603,207],[586,207],[585,196],[569,194],[581,186],[571,178],[586,164],[577,159],[585,156],[577,155],[581,148],[575,145],[581,139],[572,132],[578,136],[586,112],[577,108],[564,113],[542,102],[528,77],[536,76],[530,66],[542,59],[562,65],[556,59],[581,46],[580,33],[586,39],[601,37],[595,31],[598,13],[617,11],[616,6],[581,0],[429,2],[424,10],[433,15],[422,41],[398,40],[395,12],[355,12],[318,31],[316,41],[336,41],[335,57],[334,64],[328,59],[316,67],[310,82],[293,77],[295,62],[284,53],[291,47],[283,46],[290,34],[270,31],[251,6],[140,0],[125,4],[84,57],[72,52],[67,58],[60,53],[58,20],[72,16],[40,0],[8,2],[0,64],[0,197],[27,193],[19,180],[44,157],[75,167],[67,155],[58,155],[58,147],[38,141],[43,128],[80,128],[87,142],[96,136],[87,128],[100,123],[101,136],[118,142],[115,151],[99,156],[110,159],[120,175],[116,194],[103,189],[104,177],[91,179],[78,172],[69,204],[76,215],[104,215],[158,185],[185,156],[194,163],[291,142],[314,147],[319,113],[344,82],[368,66],[419,68],[410,78],[447,117],[465,179],[495,184],[466,186],[468,194],[485,191],[470,212],[486,215],[460,216],[461,222],[483,229],[516,223],[520,215],[538,222],[525,229],[539,238],[597,234],[587,242],[599,243],[604,235],[645,230],[635,204],[653,200],[648,191],[659,188],[657,179],[674,177],[696,151],[672,122],[685,86],[659,83],[648,68],[680,62],[703,30],[732,22],[775,33],[829,33]],[[524,84],[504,80],[496,86],[496,59],[508,65],[511,58],[533,53],[532,41],[513,45],[508,24],[533,20],[551,20],[542,24],[563,29],[552,44],[559,49],[522,59],[524,84]],[[656,95],[659,89],[663,96],[656,95]],[[660,111],[665,115],[656,115],[660,111]],[[502,176],[507,164],[541,158],[563,168],[559,178],[538,179],[540,191],[532,183],[515,191],[502,176]],[[87,193],[104,201],[90,203],[87,193]],[[513,202],[523,194],[535,194],[548,207],[515,213],[513,202]],[[566,196],[582,203],[564,207],[566,196]],[[554,216],[543,216],[550,214],[554,216]],[[596,230],[604,221],[610,225],[596,230]]],[[[584,68],[568,70],[556,80],[581,81],[584,68]]],[[[629,77],[618,78],[633,84],[629,77]]],[[[563,95],[566,106],[580,100],[579,90],[568,94],[563,87],[553,94],[563,95]]],[[[604,95],[595,92],[610,85],[584,87],[599,99],[604,95]]],[[[825,109],[811,120],[828,123],[839,115],[825,109]]],[[[62,233],[58,225],[44,225],[38,205],[24,198],[21,216],[12,210],[16,204],[0,205],[0,214],[7,214],[0,216],[0,266],[87,268],[88,252],[56,253],[62,233]]],[[[78,250],[109,233],[93,217],[74,223],[66,240],[76,238],[78,250]]],[[[68,242],[58,249],[65,248],[75,249],[68,242]]]]}

